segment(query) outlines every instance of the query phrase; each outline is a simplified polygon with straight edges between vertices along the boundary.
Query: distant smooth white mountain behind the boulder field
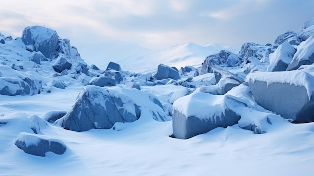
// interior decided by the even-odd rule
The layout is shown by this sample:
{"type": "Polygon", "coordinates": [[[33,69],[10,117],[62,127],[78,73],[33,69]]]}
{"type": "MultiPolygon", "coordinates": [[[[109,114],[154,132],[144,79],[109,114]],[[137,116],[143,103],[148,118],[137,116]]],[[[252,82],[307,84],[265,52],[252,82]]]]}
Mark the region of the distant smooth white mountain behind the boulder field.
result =
{"type": "Polygon", "coordinates": [[[89,64],[106,69],[110,61],[121,65],[123,70],[130,72],[152,73],[157,71],[159,64],[166,64],[180,69],[185,66],[200,67],[204,59],[220,50],[238,53],[237,49],[223,47],[215,43],[203,46],[195,43],[184,43],[171,46],[156,52],[125,42],[108,41],[96,45],[79,48],[82,57],[89,64]]]}

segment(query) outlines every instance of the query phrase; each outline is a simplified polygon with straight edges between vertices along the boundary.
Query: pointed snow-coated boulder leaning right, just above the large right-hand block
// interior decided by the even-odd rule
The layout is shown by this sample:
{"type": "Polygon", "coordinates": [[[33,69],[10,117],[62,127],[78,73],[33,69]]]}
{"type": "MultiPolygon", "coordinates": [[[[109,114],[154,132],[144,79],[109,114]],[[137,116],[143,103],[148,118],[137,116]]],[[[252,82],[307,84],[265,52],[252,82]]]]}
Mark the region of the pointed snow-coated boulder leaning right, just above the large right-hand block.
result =
{"type": "Polygon", "coordinates": [[[268,72],[285,71],[292,61],[293,55],[296,49],[292,47],[288,42],[284,42],[278,46],[275,52],[269,55],[268,72]]]}

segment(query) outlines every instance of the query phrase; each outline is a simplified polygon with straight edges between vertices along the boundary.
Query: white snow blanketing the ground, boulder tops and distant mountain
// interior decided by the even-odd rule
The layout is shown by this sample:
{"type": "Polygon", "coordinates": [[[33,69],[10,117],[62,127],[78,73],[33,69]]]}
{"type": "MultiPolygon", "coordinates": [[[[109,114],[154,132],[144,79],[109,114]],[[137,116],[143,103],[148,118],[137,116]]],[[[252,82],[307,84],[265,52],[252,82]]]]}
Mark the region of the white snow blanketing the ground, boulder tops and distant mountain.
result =
{"type": "MultiPolygon", "coordinates": [[[[146,52],[148,54],[140,58],[132,56],[123,63],[117,63],[121,64],[122,70],[130,69],[136,72],[143,70],[147,73],[156,71],[160,63],[178,68],[181,65],[197,67],[204,61],[205,55],[212,54],[212,51],[203,52],[197,48],[199,47],[187,43],[154,54],[139,48],[137,50],[139,55],[146,52]],[[193,57],[189,56],[193,52],[189,53],[188,49],[195,52],[193,57]],[[149,55],[159,57],[151,57],[150,60],[147,59],[150,58],[147,57],[149,55]],[[124,67],[127,63],[131,64],[124,67]]],[[[130,50],[116,53],[123,55],[130,50]]],[[[108,53],[110,55],[106,57],[112,58],[113,52],[108,53]]],[[[47,112],[68,111],[84,88],[81,80],[85,79],[88,82],[91,79],[86,75],[81,75],[80,80],[68,75],[52,77],[55,72],[49,61],[42,61],[40,68],[35,69],[37,71],[29,67],[30,63],[21,72],[9,67],[11,63],[18,65],[20,62],[28,61],[31,55],[31,52],[25,50],[21,38],[7,41],[4,45],[0,44],[0,63],[7,64],[0,65],[2,77],[33,76],[37,80],[42,80],[43,85],[43,91],[33,96],[0,95],[0,175],[101,175],[104,173],[108,175],[208,175],[209,173],[213,175],[312,175],[314,171],[312,167],[314,122],[292,124],[282,120],[278,115],[260,107],[251,98],[249,88],[243,84],[231,89],[225,95],[247,105],[237,108],[237,112],[242,116],[238,124],[227,128],[215,128],[186,140],[169,137],[173,133],[170,116],[168,116],[170,121],[161,122],[154,120],[151,114],[152,110],[159,113],[167,112],[167,109],[172,108],[170,102],[179,97],[172,97],[175,92],[186,88],[180,85],[141,86],[143,92],[140,92],[136,89],[117,88],[123,86],[118,84],[116,88],[108,88],[109,92],[114,91],[121,97],[126,94],[139,104],[141,117],[138,120],[132,123],[115,123],[111,129],[91,129],[84,132],[65,130],[47,123],[45,128],[41,128],[42,135],[36,136],[63,141],[67,151],[62,155],[46,153],[46,157],[27,154],[15,145],[15,141],[20,135],[20,138],[28,141],[28,145],[37,143],[31,128],[36,120],[39,126],[42,127],[43,124],[34,115],[43,118],[47,112]],[[64,82],[67,87],[65,89],[50,87],[47,83],[52,80],[64,82]],[[158,97],[165,111],[150,101],[152,96],[158,97]],[[272,124],[267,122],[267,117],[272,124]],[[266,133],[254,134],[250,130],[239,127],[252,123],[261,126],[262,131],[266,133]]],[[[257,62],[258,59],[254,65],[257,65],[257,62]]],[[[104,63],[101,57],[98,63],[104,63]]],[[[98,63],[94,64],[100,66],[101,64],[98,63]]],[[[284,83],[305,86],[309,94],[314,87],[311,77],[314,74],[313,68],[312,65],[301,66],[300,70],[273,73],[272,76],[265,72],[253,73],[248,75],[247,80],[265,80],[267,83],[281,80],[284,83]],[[307,79],[305,81],[308,84],[305,84],[304,79],[307,79]]],[[[240,69],[240,67],[228,68],[234,74],[240,69]]],[[[214,74],[194,77],[193,81],[209,86],[215,83],[214,74]]],[[[220,106],[223,101],[220,97],[222,96],[196,91],[179,98],[173,106],[184,111],[187,108],[181,106],[184,101],[190,102],[189,106],[192,108],[196,106],[193,102],[199,101],[204,103],[204,107],[198,106],[195,108],[198,111],[192,109],[186,113],[204,115],[208,110],[206,104],[220,106]]]]}

